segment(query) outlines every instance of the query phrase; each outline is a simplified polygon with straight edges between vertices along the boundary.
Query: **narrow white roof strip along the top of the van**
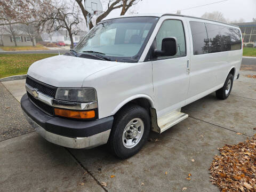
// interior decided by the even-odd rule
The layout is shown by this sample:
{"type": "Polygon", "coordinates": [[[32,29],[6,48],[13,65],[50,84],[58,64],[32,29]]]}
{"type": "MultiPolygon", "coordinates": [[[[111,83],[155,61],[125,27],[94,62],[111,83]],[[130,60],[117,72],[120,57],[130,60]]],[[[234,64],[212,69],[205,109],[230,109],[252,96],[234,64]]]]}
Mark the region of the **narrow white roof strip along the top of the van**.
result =
{"type": "Polygon", "coordinates": [[[102,21],[109,20],[109,19],[116,19],[116,18],[127,18],[127,17],[158,17],[158,18],[160,18],[160,17],[163,17],[165,15],[172,15],[172,16],[178,16],[178,17],[188,17],[188,18],[202,19],[202,20],[206,20],[206,21],[213,21],[213,22],[218,22],[218,23],[222,23],[222,24],[225,24],[225,25],[230,25],[230,26],[238,27],[238,26],[230,24],[230,23],[214,21],[214,20],[211,20],[211,19],[198,18],[198,17],[188,16],[188,15],[172,14],[172,13],[164,13],[164,14],[163,13],[127,14],[127,15],[122,15],[122,16],[118,16],[118,17],[111,17],[111,18],[108,18],[108,19],[103,19],[102,21]]]}

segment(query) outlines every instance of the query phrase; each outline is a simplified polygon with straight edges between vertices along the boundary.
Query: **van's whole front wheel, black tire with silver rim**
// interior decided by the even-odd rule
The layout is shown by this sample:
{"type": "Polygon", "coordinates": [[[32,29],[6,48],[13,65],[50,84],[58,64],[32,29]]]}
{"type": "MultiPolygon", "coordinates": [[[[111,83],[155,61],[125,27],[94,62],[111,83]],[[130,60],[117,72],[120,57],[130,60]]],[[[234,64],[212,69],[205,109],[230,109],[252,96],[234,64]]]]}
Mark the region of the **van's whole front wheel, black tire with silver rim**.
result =
{"type": "Polygon", "coordinates": [[[150,131],[148,111],[138,105],[127,105],[114,117],[109,144],[114,155],[129,158],[138,153],[150,131]]]}

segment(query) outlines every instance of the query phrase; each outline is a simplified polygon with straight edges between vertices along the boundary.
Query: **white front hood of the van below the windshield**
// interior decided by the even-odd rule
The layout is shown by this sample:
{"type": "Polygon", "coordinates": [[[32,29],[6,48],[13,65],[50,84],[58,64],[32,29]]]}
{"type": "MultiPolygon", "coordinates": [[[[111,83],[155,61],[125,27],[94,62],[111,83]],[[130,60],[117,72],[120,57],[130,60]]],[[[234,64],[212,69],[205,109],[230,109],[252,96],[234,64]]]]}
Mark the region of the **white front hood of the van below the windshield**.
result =
{"type": "Polygon", "coordinates": [[[86,77],[115,65],[118,62],[57,55],[34,62],[28,75],[56,87],[82,87],[86,77]]]}

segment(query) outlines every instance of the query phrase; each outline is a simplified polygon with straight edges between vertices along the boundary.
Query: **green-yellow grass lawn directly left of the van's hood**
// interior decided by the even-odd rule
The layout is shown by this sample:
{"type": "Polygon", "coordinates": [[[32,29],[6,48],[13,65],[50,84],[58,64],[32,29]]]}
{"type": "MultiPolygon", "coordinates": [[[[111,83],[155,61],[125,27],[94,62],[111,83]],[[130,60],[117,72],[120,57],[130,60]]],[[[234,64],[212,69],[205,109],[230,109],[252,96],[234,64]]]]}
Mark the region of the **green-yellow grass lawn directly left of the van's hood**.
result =
{"type": "Polygon", "coordinates": [[[0,54],[0,78],[27,74],[35,61],[57,54],[0,54]]]}

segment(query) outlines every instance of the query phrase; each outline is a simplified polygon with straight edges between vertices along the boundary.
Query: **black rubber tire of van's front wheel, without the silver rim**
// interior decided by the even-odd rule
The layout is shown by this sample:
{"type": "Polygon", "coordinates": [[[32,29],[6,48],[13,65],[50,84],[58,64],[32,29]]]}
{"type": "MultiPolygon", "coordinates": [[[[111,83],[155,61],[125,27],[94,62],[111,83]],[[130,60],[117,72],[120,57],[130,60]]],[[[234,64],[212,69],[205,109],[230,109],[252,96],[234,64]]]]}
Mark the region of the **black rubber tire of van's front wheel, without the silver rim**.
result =
{"type": "Polygon", "coordinates": [[[114,123],[109,136],[109,145],[112,153],[121,159],[137,154],[147,141],[149,132],[150,117],[148,111],[138,105],[126,105],[114,116],[114,123]],[[123,144],[123,133],[126,125],[134,118],[140,118],[142,120],[144,131],[140,141],[134,147],[126,148],[123,144]]]}

